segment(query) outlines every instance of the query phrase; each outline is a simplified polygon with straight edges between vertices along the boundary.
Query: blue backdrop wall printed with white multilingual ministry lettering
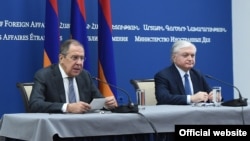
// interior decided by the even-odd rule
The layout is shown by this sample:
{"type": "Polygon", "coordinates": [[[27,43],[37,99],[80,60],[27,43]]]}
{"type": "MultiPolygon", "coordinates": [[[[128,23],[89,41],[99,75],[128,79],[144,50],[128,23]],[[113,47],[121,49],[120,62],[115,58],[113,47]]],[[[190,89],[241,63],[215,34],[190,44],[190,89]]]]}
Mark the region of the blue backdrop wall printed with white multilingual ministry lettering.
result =
{"type": "MultiPolygon", "coordinates": [[[[30,82],[43,65],[45,0],[8,0],[0,5],[0,116],[24,112],[17,82],[30,82]],[[15,3],[15,4],[14,4],[15,3]]],[[[97,0],[85,0],[91,68],[97,76],[97,0]]],[[[70,0],[58,1],[61,39],[68,39],[70,0]],[[66,25],[66,26],[65,26],[66,25]]],[[[180,38],[198,48],[195,68],[233,83],[230,0],[111,0],[117,86],[135,102],[129,80],[153,78],[170,65],[170,47],[180,38]]],[[[225,100],[233,88],[221,85],[225,100]]],[[[119,94],[120,93],[120,94],[119,94]]],[[[119,103],[126,103],[122,92],[119,103]]]]}

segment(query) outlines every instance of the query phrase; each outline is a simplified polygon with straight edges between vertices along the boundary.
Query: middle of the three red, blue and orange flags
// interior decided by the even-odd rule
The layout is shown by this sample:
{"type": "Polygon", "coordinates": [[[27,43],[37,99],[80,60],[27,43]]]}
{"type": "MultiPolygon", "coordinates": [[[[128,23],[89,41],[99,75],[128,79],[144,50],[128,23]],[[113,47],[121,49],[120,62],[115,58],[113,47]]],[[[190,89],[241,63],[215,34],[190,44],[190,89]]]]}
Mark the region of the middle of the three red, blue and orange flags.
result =
{"type": "Polygon", "coordinates": [[[86,28],[86,12],[84,0],[71,0],[71,24],[70,32],[72,39],[78,40],[84,46],[85,57],[84,68],[90,69],[89,48],[86,28]]]}

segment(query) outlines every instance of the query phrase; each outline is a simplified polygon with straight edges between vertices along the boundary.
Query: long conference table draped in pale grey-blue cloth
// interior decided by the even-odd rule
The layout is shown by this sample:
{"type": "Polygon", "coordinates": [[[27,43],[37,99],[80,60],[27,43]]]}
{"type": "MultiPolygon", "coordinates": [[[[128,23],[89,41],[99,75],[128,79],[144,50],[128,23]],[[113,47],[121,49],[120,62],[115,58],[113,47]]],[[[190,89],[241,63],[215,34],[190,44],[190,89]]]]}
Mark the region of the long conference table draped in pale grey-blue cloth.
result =
{"type": "Polygon", "coordinates": [[[139,113],[11,113],[0,121],[0,136],[27,141],[175,132],[175,125],[250,125],[250,106],[140,106],[139,113]]]}

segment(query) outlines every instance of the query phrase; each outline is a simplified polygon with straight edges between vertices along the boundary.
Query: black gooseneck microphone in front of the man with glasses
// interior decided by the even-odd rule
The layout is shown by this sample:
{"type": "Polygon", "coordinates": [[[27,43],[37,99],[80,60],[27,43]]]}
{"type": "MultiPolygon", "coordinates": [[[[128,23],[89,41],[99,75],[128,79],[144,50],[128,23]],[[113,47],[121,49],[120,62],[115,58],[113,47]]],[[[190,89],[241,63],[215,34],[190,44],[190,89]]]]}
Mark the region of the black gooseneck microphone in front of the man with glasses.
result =
{"type": "Polygon", "coordinates": [[[114,112],[114,113],[138,113],[138,105],[134,104],[131,100],[131,97],[129,96],[128,92],[126,92],[124,89],[120,88],[120,87],[117,87],[113,84],[110,84],[106,81],[103,81],[97,77],[92,77],[92,79],[95,79],[96,81],[98,82],[101,82],[101,83],[104,83],[104,84],[107,84],[111,87],[114,87],[120,91],[122,91],[127,97],[128,97],[128,105],[122,105],[122,106],[118,106],[114,109],[111,109],[111,112],[114,112]]]}

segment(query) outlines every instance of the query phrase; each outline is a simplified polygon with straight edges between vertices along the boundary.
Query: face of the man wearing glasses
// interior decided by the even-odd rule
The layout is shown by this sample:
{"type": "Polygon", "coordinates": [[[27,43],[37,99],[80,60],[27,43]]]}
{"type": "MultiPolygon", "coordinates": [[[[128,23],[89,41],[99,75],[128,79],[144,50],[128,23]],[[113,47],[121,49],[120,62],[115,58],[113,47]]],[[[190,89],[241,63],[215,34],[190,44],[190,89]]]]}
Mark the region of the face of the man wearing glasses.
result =
{"type": "Polygon", "coordinates": [[[60,54],[60,64],[69,77],[77,76],[83,69],[85,60],[82,46],[71,44],[66,55],[60,54]]]}

